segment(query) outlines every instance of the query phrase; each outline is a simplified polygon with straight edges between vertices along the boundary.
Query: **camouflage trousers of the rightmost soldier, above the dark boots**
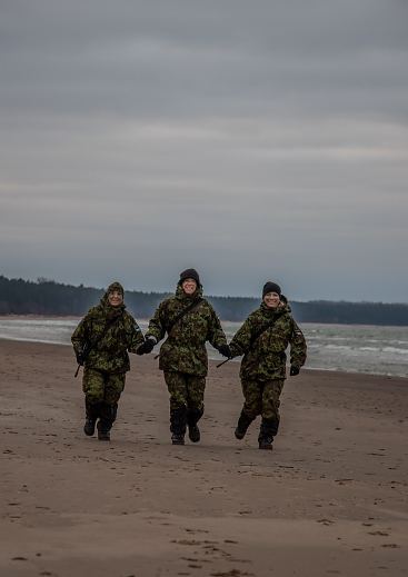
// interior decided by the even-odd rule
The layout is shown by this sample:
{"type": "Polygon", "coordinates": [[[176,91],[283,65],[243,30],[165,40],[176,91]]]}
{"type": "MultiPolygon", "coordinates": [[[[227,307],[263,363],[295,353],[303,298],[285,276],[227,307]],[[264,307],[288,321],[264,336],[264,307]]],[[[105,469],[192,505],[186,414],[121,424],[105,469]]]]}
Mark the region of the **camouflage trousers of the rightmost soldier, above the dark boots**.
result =
{"type": "Polygon", "coordinates": [[[278,425],[280,420],[279,397],[283,384],[283,379],[266,381],[242,379],[241,387],[245,397],[242,412],[252,420],[261,415],[262,419],[278,425]]]}

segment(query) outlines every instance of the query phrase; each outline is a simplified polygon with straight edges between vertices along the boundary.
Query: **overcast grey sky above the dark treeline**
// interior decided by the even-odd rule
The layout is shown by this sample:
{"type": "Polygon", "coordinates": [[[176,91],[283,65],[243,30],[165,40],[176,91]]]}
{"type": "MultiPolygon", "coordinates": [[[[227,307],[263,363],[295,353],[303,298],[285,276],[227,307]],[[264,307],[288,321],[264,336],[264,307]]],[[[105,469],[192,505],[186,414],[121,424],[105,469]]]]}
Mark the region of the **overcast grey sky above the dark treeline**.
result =
{"type": "Polygon", "coordinates": [[[0,0],[0,273],[408,302],[406,0],[0,0]]]}

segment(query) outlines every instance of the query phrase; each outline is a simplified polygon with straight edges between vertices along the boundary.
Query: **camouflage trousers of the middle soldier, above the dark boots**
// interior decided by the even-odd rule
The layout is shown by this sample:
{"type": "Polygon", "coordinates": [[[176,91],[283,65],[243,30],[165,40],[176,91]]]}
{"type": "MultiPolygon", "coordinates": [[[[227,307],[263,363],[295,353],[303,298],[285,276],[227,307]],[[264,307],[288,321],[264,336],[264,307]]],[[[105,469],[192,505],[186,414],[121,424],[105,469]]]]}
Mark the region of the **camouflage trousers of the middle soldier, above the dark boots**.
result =
{"type": "Polygon", "coordinates": [[[206,377],[165,371],[165,381],[170,395],[170,410],[186,407],[202,415],[206,377]]]}

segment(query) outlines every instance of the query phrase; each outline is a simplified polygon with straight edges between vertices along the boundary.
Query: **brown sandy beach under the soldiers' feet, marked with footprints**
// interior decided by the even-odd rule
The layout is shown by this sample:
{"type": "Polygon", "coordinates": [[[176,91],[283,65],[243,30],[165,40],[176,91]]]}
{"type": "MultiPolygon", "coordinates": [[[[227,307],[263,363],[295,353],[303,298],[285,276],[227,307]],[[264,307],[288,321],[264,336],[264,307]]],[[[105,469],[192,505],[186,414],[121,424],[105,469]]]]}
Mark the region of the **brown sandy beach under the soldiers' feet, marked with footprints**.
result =
{"type": "Polygon", "coordinates": [[[131,361],[108,444],[69,347],[0,340],[2,577],[407,575],[407,379],[303,370],[269,452],[211,364],[202,441],[173,447],[158,361],[131,361]]]}

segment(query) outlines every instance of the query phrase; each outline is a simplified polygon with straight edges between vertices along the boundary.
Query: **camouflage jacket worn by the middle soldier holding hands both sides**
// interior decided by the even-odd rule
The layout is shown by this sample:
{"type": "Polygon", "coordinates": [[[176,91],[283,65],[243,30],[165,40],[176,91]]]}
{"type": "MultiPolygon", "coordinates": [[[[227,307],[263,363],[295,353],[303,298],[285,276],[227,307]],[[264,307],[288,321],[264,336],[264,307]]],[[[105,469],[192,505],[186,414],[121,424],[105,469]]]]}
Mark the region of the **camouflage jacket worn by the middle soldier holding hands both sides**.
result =
{"type": "Polygon", "coordinates": [[[147,338],[152,336],[159,341],[167,334],[167,339],[160,348],[160,369],[206,376],[208,371],[206,341],[215,348],[227,344],[216,311],[201,295],[201,287],[192,297],[188,297],[181,286],[178,286],[176,295],[163,300],[150,320],[147,338]],[[173,325],[178,315],[198,299],[201,300],[197,302],[197,307],[173,325]]]}

